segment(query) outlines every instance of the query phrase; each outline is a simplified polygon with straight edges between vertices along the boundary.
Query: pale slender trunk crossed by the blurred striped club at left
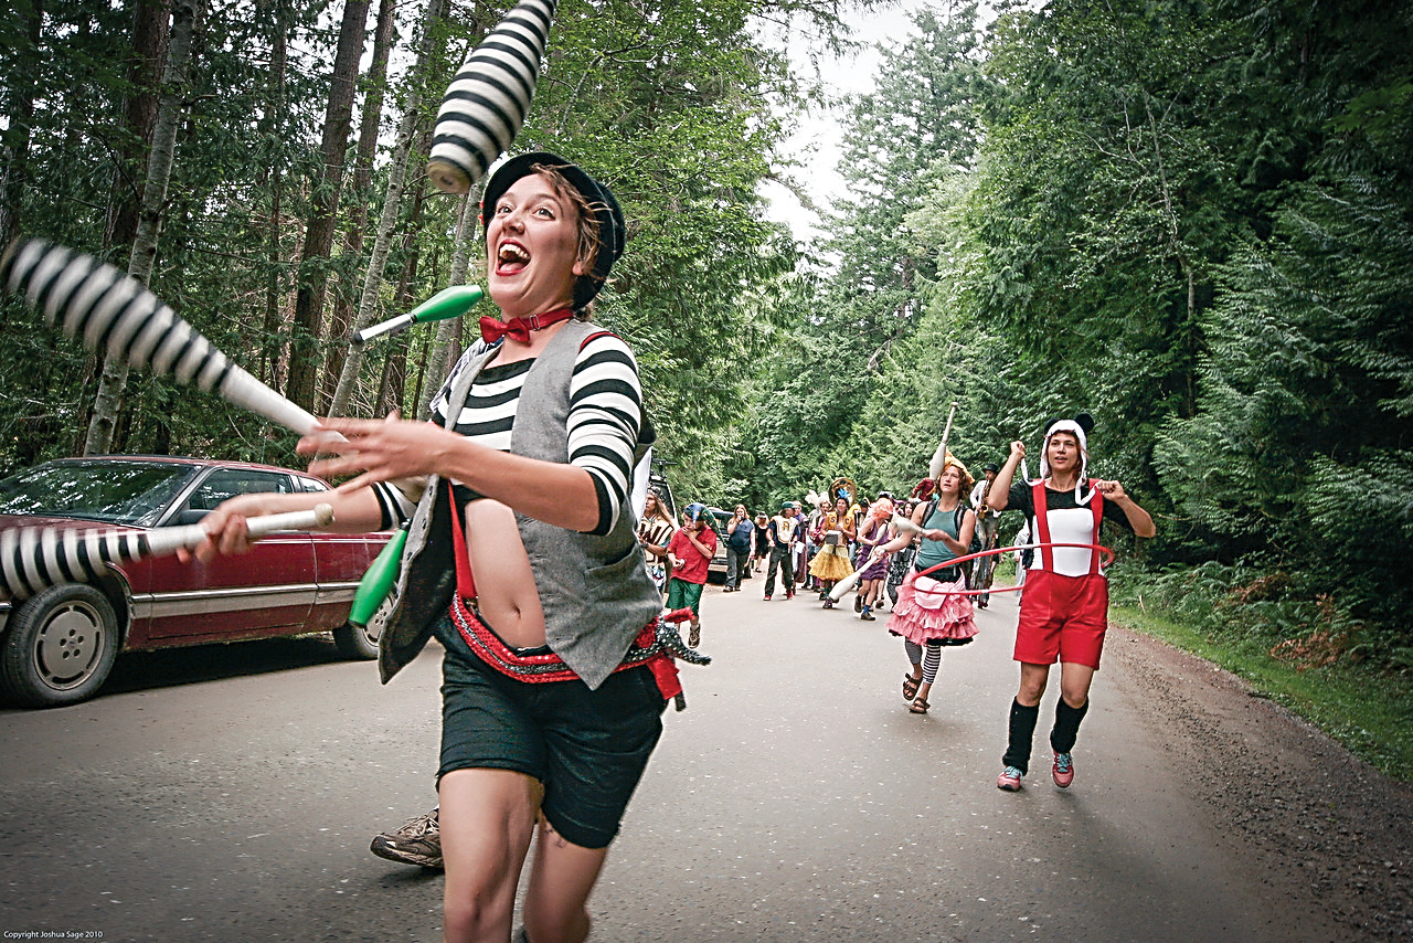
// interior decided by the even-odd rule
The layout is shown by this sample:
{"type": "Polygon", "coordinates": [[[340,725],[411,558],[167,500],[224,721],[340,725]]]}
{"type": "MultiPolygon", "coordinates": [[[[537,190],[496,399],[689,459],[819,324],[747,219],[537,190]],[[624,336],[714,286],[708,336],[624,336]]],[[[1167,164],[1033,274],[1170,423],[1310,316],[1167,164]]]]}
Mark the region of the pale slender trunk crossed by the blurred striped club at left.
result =
{"type": "MultiPolygon", "coordinates": [[[[162,96],[153,124],[153,151],[147,160],[147,181],[137,213],[137,232],[127,260],[127,274],[147,284],[157,260],[157,236],[161,230],[162,209],[167,205],[167,185],[171,181],[172,157],[177,150],[177,130],[185,107],[188,69],[196,23],[205,13],[206,0],[177,0],[172,8],[171,41],[167,68],[162,71],[162,96]]],[[[106,452],[113,445],[117,411],[127,386],[127,363],[103,362],[97,396],[93,397],[93,418],[89,421],[83,454],[106,452]]]]}

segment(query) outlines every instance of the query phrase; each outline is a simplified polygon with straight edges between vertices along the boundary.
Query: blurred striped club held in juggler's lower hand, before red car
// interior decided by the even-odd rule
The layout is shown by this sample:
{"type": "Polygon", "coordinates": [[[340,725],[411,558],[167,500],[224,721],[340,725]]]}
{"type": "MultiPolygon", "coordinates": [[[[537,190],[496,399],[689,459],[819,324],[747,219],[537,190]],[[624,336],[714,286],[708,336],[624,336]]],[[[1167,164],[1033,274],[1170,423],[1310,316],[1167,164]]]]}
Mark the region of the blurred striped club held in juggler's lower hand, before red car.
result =
{"type": "MultiPolygon", "coordinates": [[[[252,537],[276,530],[314,530],[333,520],[329,505],[311,510],[250,517],[252,537]]],[[[0,597],[28,599],[58,582],[88,582],[107,564],[141,557],[162,557],[178,547],[195,547],[206,539],[201,525],[112,530],[103,527],[11,527],[0,530],[0,597]]]]}

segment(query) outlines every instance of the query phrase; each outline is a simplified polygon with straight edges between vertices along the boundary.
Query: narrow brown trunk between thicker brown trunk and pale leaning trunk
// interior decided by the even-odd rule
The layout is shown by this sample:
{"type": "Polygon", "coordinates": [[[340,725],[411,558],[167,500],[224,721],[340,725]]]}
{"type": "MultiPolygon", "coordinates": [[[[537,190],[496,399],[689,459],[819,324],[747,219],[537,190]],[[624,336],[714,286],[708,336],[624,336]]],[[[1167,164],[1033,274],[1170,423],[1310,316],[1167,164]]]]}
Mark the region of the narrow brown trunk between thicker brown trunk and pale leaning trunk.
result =
{"type": "MultiPolygon", "coordinates": [[[[387,90],[387,55],[393,41],[393,27],[397,21],[394,0],[380,0],[377,7],[377,31],[373,34],[373,61],[363,76],[363,117],[359,126],[357,151],[353,157],[353,180],[350,194],[353,202],[348,208],[348,223],[343,230],[343,257],[349,267],[363,254],[363,232],[367,229],[369,188],[373,182],[373,158],[377,156],[377,129],[383,119],[383,93],[387,90]]],[[[324,389],[319,403],[328,409],[333,402],[339,375],[343,370],[345,352],[338,344],[349,331],[353,320],[353,276],[349,267],[339,277],[339,290],[333,297],[333,314],[329,318],[329,338],[335,345],[324,365],[324,389]]]]}

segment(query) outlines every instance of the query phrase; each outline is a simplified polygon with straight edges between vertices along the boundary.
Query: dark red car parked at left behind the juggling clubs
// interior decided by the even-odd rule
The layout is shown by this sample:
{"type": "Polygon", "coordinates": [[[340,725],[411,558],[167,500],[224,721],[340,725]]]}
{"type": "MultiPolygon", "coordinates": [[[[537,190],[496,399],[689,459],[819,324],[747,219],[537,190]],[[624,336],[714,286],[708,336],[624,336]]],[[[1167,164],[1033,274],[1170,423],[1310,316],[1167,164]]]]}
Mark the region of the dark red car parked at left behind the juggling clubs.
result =
{"type": "MultiPolygon", "coordinates": [[[[0,481],[0,530],[189,525],[246,492],[329,491],[305,472],[160,455],[66,458],[0,481]]],[[[348,623],[353,591],[391,534],[276,533],[237,557],[106,567],[24,601],[0,598],[0,693],[27,707],[88,700],[119,650],[332,632],[348,657],[377,638],[348,623]]]]}

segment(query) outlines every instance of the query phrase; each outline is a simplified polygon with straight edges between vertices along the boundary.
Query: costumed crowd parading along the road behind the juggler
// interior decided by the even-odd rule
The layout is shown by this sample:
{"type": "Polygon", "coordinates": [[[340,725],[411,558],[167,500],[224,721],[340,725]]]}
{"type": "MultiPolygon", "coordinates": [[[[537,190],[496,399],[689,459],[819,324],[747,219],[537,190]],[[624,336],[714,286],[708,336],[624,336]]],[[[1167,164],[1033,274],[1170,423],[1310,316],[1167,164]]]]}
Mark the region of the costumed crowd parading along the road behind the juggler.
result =
{"type": "MultiPolygon", "coordinates": [[[[869,500],[852,481],[839,478],[829,491],[805,496],[812,506],[808,513],[797,500],[783,502],[769,517],[752,516],[738,503],[722,529],[728,544],[723,592],[742,591],[746,580],[764,570],[762,598],[767,602],[804,594],[834,609],[852,594],[862,622],[873,622],[876,612],[889,609],[886,629],[903,640],[909,664],[903,698],[910,713],[927,714],[944,649],[976,636],[976,611],[991,604],[996,561],[1012,556],[1013,588],[1023,590],[1013,656],[1020,663],[1020,686],[996,785],[1007,792],[1020,789],[1050,666],[1060,662],[1051,775],[1057,786],[1068,787],[1074,782],[1071,751],[1088,710],[1106,628],[1099,527],[1108,520],[1137,536],[1154,533],[1149,515],[1119,482],[1087,476],[1092,424],[1084,413],[1051,421],[1034,481],[1016,481],[1026,455],[1017,441],[1003,465],[985,462],[981,478],[942,448],[934,457],[935,478],[921,479],[901,499],[880,491],[869,500]],[[1010,509],[1023,512],[1024,522],[1009,544],[1000,546],[1002,513],[1010,509]]],[[[684,515],[687,526],[691,508],[684,515]]],[[[650,567],[660,558],[656,526],[644,517],[640,532],[650,567]]],[[[705,554],[705,566],[711,554],[702,546],[694,549],[705,554]]],[[[692,646],[698,638],[694,622],[692,646]]]]}

